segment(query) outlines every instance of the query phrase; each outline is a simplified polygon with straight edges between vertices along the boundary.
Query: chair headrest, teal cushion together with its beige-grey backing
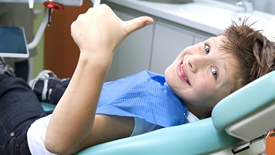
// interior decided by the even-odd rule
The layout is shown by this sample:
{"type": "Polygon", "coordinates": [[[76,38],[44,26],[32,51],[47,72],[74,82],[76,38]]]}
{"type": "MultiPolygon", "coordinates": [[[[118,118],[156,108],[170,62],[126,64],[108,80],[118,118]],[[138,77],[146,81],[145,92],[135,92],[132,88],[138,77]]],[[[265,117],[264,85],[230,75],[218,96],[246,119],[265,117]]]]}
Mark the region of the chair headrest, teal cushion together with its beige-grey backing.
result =
{"type": "Polygon", "coordinates": [[[244,141],[275,128],[275,71],[252,81],[220,101],[212,111],[217,130],[244,141]]]}

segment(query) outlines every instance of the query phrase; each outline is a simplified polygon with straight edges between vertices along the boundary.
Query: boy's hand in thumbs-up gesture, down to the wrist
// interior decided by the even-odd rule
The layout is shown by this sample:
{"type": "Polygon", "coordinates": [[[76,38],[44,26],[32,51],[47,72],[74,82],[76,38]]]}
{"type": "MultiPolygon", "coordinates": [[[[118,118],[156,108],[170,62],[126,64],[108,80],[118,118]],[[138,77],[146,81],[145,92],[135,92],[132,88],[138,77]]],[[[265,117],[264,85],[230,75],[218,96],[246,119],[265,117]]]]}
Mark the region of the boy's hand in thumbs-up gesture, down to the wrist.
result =
{"type": "Polygon", "coordinates": [[[112,58],[115,48],[131,32],[153,24],[150,17],[122,21],[107,5],[89,8],[71,25],[72,37],[81,52],[89,52],[94,58],[112,58]]]}

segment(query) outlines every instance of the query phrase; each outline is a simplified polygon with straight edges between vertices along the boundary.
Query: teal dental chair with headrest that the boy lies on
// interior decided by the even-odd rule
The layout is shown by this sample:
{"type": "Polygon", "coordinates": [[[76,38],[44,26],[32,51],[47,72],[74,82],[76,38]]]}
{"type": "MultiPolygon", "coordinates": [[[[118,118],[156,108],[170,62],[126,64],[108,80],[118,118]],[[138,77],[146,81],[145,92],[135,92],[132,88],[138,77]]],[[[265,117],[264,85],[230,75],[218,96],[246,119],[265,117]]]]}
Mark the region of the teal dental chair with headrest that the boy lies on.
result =
{"type": "MultiPolygon", "coordinates": [[[[42,105],[54,109],[49,103],[42,105]]],[[[102,143],[77,154],[262,154],[274,120],[275,71],[220,101],[210,118],[102,143]]]]}

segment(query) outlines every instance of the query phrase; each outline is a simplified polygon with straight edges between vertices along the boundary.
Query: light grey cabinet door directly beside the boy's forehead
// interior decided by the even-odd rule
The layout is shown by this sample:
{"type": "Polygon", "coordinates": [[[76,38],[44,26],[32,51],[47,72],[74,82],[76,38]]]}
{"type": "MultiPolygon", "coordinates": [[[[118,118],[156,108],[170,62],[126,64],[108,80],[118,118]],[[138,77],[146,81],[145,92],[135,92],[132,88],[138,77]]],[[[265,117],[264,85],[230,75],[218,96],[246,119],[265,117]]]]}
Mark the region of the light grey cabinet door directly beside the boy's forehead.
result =
{"type": "Polygon", "coordinates": [[[153,53],[150,70],[164,74],[184,48],[192,45],[195,33],[176,25],[157,21],[153,40],[153,53]]]}

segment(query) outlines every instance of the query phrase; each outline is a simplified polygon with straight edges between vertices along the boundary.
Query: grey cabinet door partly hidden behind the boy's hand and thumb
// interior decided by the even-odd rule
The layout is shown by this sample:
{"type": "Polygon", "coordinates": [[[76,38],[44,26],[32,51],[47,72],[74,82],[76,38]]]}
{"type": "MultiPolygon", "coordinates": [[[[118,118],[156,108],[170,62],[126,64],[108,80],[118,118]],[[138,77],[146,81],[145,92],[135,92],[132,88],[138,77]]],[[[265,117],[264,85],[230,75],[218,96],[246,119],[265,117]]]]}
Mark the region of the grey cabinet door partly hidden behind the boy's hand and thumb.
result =
{"type": "MultiPolygon", "coordinates": [[[[135,12],[124,13],[118,10],[115,10],[115,13],[122,20],[129,20],[141,16],[141,14],[135,12]]],[[[153,25],[148,25],[130,34],[115,52],[107,81],[120,79],[124,76],[148,70],[152,38],[153,25]]]]}

